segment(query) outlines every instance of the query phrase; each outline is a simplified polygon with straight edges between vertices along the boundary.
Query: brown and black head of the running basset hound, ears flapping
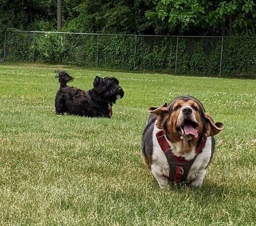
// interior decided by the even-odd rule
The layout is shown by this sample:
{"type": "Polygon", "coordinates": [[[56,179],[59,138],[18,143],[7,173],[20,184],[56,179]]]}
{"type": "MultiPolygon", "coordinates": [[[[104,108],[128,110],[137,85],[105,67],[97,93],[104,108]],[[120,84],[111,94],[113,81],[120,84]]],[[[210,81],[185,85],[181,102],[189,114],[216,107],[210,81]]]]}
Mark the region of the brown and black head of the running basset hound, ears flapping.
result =
{"type": "Polygon", "coordinates": [[[157,115],[156,126],[164,129],[172,142],[180,140],[196,144],[202,136],[214,136],[224,129],[222,123],[214,123],[204,111],[202,103],[191,96],[174,99],[168,106],[151,107],[150,112],[157,115]]]}

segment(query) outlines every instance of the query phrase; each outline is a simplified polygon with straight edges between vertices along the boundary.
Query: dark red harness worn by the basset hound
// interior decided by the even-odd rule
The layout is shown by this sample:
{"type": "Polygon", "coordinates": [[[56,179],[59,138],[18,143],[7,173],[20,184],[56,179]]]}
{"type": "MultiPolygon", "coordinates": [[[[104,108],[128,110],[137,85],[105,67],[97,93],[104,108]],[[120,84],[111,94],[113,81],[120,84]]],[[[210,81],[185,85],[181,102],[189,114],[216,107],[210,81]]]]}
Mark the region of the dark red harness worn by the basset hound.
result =
{"type": "Polygon", "coordinates": [[[195,158],[197,158],[197,155],[202,152],[203,147],[206,144],[206,137],[203,137],[200,140],[195,150],[195,157],[189,161],[183,157],[173,155],[172,147],[170,147],[165,138],[164,130],[156,133],[156,138],[169,164],[169,180],[174,182],[187,181],[187,174],[189,173],[195,158]]]}

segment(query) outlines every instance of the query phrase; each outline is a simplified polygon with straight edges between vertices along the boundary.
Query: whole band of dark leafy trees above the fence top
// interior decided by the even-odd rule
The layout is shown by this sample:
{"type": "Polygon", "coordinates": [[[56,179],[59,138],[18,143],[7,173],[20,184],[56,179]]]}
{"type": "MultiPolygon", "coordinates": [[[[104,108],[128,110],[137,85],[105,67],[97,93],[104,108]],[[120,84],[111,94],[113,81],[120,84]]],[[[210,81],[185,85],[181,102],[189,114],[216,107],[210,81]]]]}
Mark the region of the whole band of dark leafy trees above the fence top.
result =
{"type": "MultiPolygon", "coordinates": [[[[255,32],[253,0],[62,0],[63,31],[125,34],[255,32]]],[[[54,0],[0,0],[0,27],[56,31],[54,0]]]]}

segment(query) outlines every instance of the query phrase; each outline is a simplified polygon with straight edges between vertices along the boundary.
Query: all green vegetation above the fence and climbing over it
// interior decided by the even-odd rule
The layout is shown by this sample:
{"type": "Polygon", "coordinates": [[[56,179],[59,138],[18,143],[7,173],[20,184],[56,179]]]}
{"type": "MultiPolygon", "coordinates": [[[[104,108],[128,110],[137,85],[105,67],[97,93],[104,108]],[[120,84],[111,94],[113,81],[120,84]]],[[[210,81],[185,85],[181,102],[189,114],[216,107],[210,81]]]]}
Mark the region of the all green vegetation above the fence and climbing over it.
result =
{"type": "MultiPolygon", "coordinates": [[[[0,30],[57,30],[57,1],[0,0],[0,30]]],[[[250,0],[62,0],[62,31],[114,34],[238,36],[224,38],[223,75],[255,74],[255,4],[250,0]]],[[[176,40],[173,38],[101,36],[44,36],[8,34],[8,56],[95,66],[172,72],[176,40]],[[136,53],[134,45],[136,44],[136,53]],[[12,49],[11,49],[12,45],[12,49]],[[135,64],[134,64],[135,62],[135,64]]],[[[3,32],[0,34],[3,43],[3,32]]],[[[221,38],[179,42],[180,73],[217,75],[221,38]]],[[[0,50],[0,56],[3,51],[0,50]]]]}

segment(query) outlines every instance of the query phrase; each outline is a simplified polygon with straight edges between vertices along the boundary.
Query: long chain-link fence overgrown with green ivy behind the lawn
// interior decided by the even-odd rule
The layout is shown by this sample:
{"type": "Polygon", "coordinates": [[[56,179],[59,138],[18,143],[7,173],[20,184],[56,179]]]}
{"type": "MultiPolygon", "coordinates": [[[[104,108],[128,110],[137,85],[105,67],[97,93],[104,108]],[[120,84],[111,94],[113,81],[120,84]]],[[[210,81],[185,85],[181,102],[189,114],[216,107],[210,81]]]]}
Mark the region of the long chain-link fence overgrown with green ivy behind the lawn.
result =
{"type": "Polygon", "coordinates": [[[0,57],[191,75],[255,76],[255,37],[7,31],[0,57]]]}

